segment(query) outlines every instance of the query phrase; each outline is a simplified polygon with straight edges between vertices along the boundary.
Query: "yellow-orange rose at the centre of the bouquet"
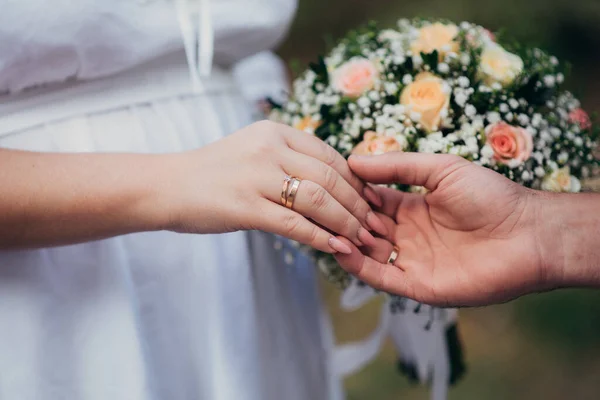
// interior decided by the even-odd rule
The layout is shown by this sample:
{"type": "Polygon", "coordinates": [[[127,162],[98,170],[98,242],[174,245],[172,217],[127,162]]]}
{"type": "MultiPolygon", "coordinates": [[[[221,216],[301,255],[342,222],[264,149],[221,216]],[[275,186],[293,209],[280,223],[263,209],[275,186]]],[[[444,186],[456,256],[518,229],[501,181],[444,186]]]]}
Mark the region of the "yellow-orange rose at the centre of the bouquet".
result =
{"type": "Polygon", "coordinates": [[[430,73],[421,73],[400,95],[400,104],[420,114],[419,122],[428,132],[439,128],[443,114],[448,112],[450,91],[444,81],[430,73]]]}

